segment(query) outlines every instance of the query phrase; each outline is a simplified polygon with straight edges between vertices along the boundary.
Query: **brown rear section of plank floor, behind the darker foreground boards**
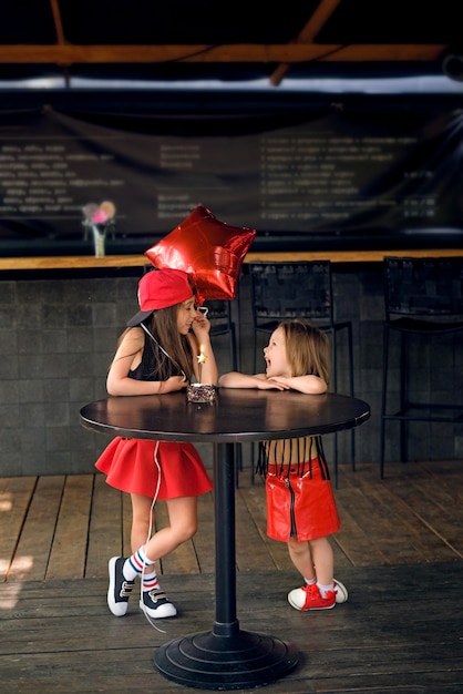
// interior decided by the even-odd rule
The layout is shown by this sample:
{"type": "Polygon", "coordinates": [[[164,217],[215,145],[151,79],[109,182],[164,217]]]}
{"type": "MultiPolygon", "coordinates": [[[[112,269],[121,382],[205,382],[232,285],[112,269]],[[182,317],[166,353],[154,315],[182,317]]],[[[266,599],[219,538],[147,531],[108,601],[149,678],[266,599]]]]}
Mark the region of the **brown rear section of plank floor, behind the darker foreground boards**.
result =
{"type": "MultiPolygon", "coordinates": [[[[286,545],[266,537],[264,486],[239,476],[236,491],[238,571],[291,568],[286,545]]],[[[336,567],[463,559],[463,466],[390,463],[341,468],[335,491],[342,528],[336,567]]],[[[105,578],[107,559],[130,552],[131,504],[102,474],[0,478],[0,581],[105,578]]],[[[166,522],[165,504],[156,507],[166,522]]],[[[199,498],[195,538],[162,561],[161,573],[214,572],[213,492],[199,498]]]]}

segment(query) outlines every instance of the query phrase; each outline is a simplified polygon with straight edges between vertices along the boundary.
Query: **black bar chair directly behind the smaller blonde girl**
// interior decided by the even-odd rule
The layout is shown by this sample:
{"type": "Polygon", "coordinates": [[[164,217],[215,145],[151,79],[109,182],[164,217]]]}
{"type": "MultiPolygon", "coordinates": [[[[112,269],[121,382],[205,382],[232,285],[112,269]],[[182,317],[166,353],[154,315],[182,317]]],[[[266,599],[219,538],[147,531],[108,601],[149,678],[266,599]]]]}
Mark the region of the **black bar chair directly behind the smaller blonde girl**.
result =
{"type": "MultiPolygon", "coordinates": [[[[288,318],[306,318],[330,336],[332,390],[338,388],[338,334],[344,330],[348,349],[349,394],[353,396],[352,324],[337,320],[330,261],[255,262],[250,274],[253,304],[253,364],[257,370],[257,336],[270,335],[288,318]]],[[[351,460],[354,470],[354,435],[351,431],[351,460]]],[[[338,483],[338,442],[335,435],[335,480],[338,483]]]]}

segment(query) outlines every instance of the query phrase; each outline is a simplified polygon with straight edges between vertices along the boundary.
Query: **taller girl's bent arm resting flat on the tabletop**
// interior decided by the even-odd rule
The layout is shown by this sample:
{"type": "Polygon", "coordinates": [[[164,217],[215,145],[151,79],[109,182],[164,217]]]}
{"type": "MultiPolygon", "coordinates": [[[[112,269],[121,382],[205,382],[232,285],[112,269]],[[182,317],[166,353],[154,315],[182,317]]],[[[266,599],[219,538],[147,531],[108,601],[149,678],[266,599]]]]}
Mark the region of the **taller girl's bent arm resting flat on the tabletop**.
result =
{"type": "Polygon", "coordinates": [[[182,376],[172,376],[168,380],[136,380],[128,377],[128,371],[142,360],[144,344],[142,328],[131,328],[124,334],[106,378],[110,395],[158,395],[186,387],[182,376]]]}

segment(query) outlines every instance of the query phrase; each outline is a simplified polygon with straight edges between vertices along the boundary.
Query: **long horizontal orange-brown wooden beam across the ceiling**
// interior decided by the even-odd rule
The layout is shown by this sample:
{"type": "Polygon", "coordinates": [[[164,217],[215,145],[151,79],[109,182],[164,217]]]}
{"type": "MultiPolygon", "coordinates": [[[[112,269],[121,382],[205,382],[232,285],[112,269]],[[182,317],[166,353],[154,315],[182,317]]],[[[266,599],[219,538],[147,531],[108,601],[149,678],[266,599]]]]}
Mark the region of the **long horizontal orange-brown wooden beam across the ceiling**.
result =
{"type": "Polygon", "coordinates": [[[449,49],[431,44],[0,45],[0,63],[301,63],[434,61],[449,49]]]}

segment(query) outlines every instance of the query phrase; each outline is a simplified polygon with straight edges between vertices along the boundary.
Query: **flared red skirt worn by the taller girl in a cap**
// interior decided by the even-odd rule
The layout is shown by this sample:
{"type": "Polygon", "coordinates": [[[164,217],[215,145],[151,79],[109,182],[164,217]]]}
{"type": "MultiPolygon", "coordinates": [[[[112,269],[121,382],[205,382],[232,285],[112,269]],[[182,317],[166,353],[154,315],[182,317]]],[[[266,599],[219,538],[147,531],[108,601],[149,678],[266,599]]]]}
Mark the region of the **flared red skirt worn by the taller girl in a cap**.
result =
{"type": "Polygon", "coordinates": [[[156,496],[160,468],[157,499],[197,497],[213,488],[193,443],[116,437],[106,446],[95,467],[106,474],[111,487],[150,499],[156,496]]]}

